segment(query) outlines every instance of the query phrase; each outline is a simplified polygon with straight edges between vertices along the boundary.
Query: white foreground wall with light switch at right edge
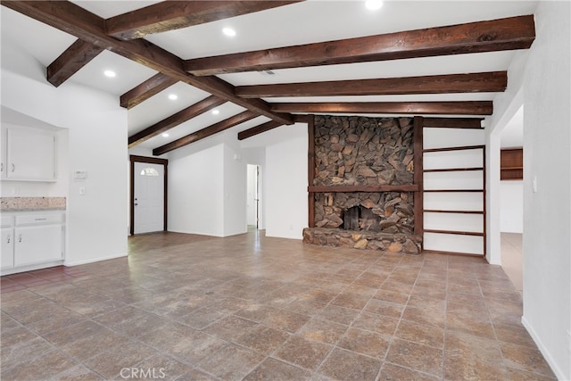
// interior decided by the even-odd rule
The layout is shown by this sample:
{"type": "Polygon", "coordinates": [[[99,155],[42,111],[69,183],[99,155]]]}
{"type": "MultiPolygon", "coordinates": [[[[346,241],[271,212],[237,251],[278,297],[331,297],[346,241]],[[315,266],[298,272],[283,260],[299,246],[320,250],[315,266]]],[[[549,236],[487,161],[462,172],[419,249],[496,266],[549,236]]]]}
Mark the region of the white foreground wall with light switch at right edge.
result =
{"type": "Polygon", "coordinates": [[[522,320],[556,376],[571,379],[571,4],[540,2],[535,29],[524,81],[522,320]]]}

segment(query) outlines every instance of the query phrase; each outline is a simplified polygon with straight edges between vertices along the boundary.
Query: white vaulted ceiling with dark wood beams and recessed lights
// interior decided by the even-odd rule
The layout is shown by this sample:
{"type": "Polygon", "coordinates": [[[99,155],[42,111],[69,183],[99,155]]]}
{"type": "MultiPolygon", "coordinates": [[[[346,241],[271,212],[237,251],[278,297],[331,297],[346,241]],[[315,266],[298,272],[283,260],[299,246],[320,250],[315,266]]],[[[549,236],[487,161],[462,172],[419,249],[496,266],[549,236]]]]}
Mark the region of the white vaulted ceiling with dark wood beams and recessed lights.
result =
{"type": "Polygon", "coordinates": [[[536,4],[385,1],[375,11],[364,1],[2,5],[3,45],[28,50],[55,87],[76,81],[117,95],[128,109],[129,147],[160,155],[228,128],[244,139],[310,113],[490,115],[514,52],[534,41],[536,4]],[[104,70],[117,76],[105,78],[104,70]]]}

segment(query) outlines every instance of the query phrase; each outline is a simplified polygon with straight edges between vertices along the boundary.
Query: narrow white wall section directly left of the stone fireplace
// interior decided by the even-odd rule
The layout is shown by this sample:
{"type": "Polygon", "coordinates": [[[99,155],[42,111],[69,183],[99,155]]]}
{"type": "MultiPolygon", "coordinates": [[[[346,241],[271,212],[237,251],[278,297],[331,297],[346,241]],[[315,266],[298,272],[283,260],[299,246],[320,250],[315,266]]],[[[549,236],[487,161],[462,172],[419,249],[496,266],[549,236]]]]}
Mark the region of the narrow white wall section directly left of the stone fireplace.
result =
{"type": "Polygon", "coordinates": [[[307,124],[272,130],[266,147],[266,236],[302,239],[308,225],[307,124]]]}

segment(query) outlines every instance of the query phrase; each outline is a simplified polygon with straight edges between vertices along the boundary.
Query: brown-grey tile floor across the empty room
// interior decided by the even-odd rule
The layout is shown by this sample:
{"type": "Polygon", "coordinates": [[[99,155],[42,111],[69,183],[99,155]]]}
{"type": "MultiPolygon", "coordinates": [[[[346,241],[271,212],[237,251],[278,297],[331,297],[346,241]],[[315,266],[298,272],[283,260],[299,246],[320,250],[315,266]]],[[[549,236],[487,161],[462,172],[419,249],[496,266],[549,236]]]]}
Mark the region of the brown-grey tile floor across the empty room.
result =
{"type": "Polygon", "coordinates": [[[3,380],[554,379],[520,294],[482,259],[255,232],[129,251],[2,277],[3,380]]]}

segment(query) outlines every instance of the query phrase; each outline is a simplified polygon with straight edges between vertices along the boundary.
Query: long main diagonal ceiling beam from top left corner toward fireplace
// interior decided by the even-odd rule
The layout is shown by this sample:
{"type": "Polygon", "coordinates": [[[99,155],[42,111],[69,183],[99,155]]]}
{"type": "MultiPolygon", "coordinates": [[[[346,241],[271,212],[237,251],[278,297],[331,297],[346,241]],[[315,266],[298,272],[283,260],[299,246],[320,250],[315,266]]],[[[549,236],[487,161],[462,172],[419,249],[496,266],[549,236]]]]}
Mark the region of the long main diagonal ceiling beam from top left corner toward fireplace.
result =
{"type": "Polygon", "coordinates": [[[63,30],[95,46],[103,47],[132,61],[157,70],[172,79],[185,82],[211,95],[259,113],[271,120],[292,124],[290,114],[271,112],[269,104],[261,99],[244,99],[234,94],[235,87],[217,77],[197,78],[183,70],[182,60],[145,39],[120,41],[107,36],[103,19],[68,1],[17,1],[3,0],[2,5],[16,12],[63,30]]]}

